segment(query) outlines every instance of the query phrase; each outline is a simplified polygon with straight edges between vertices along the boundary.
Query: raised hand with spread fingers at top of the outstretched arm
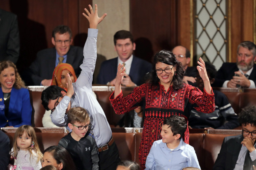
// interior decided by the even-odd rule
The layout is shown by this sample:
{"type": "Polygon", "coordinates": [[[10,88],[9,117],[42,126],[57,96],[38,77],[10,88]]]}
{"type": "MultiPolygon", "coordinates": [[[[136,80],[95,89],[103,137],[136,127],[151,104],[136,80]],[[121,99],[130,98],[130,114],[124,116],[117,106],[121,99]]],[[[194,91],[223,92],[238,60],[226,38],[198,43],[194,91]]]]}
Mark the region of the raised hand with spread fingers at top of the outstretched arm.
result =
{"type": "Polygon", "coordinates": [[[104,13],[100,18],[98,17],[98,7],[97,4],[95,4],[95,12],[93,12],[92,6],[89,5],[90,8],[90,12],[85,8],[85,11],[87,13],[87,15],[85,13],[83,13],[83,15],[88,19],[89,23],[90,23],[90,28],[91,29],[96,29],[97,25],[105,18],[105,16],[107,16],[106,13],[104,13]]]}

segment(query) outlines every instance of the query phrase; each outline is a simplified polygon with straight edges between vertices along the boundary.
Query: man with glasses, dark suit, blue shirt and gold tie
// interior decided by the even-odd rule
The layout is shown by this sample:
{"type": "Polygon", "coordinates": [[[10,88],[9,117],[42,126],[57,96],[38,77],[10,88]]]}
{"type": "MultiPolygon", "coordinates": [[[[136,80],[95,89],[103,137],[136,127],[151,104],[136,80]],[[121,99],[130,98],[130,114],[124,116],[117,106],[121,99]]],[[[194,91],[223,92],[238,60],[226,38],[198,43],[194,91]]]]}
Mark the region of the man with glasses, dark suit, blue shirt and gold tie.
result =
{"type": "Polygon", "coordinates": [[[70,28],[66,25],[57,26],[52,34],[55,48],[44,49],[37,53],[36,60],[24,76],[27,85],[50,86],[53,70],[61,62],[71,64],[78,77],[81,72],[79,66],[83,63],[83,48],[71,46],[72,41],[70,28]]]}

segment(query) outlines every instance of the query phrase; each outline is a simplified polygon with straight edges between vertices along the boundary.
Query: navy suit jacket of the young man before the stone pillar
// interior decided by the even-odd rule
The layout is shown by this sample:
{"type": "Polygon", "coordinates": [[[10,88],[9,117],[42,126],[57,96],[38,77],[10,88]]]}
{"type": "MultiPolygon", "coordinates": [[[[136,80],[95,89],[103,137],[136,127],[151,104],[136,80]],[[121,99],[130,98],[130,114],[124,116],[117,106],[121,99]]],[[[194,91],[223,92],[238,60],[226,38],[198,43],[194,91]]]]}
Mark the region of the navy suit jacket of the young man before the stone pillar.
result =
{"type": "MultiPolygon", "coordinates": [[[[97,77],[98,84],[107,84],[117,76],[118,57],[103,61],[97,77]]],[[[143,77],[152,70],[152,64],[133,55],[129,76],[132,82],[141,85],[143,77]]]]}

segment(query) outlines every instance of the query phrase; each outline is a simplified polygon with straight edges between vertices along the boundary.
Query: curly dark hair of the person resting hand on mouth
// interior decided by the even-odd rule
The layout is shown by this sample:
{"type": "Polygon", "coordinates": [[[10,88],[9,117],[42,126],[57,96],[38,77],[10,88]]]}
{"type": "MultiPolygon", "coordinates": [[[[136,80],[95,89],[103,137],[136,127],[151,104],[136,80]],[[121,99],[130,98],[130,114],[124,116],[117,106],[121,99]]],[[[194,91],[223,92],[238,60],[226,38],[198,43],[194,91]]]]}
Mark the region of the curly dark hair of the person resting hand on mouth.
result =
{"type": "Polygon", "coordinates": [[[246,106],[238,114],[238,121],[241,124],[252,124],[256,126],[256,106],[246,106]]]}

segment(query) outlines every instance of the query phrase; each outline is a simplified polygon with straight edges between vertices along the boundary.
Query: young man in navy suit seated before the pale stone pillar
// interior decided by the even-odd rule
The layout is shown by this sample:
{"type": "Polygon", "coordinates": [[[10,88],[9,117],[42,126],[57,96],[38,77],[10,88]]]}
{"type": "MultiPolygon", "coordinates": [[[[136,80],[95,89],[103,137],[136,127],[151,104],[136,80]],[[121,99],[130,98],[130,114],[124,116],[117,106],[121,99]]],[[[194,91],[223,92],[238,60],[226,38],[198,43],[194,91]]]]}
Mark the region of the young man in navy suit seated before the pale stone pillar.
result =
{"type": "Polygon", "coordinates": [[[146,73],[152,70],[152,64],[132,55],[136,45],[129,31],[118,31],[114,35],[114,44],[118,57],[102,62],[97,83],[115,86],[117,66],[121,63],[126,68],[126,75],[124,76],[122,85],[141,85],[146,73]]]}

